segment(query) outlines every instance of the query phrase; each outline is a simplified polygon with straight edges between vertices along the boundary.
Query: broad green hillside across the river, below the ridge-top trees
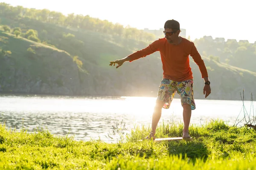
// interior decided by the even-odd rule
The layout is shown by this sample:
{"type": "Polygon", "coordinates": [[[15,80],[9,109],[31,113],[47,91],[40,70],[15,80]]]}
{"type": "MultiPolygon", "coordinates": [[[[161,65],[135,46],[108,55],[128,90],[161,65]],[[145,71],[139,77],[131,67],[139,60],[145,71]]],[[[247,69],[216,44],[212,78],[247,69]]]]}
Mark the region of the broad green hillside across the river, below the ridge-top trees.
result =
{"type": "MultiPolygon", "coordinates": [[[[0,18],[2,93],[157,95],[163,73],[158,52],[131,63],[127,62],[119,69],[108,65],[111,60],[126,57],[145,48],[150,41],[31,18],[4,15],[0,18]],[[3,25],[9,26],[10,30],[4,31],[3,25]],[[17,27],[21,31],[18,37],[13,31],[17,27]]],[[[255,72],[224,64],[215,58],[203,56],[203,59],[212,83],[209,99],[240,100],[239,91],[243,88],[247,100],[250,100],[251,92],[256,93],[253,84],[256,79],[255,72]]],[[[204,99],[204,81],[198,66],[192,58],[190,60],[195,78],[195,98],[204,99]]]]}

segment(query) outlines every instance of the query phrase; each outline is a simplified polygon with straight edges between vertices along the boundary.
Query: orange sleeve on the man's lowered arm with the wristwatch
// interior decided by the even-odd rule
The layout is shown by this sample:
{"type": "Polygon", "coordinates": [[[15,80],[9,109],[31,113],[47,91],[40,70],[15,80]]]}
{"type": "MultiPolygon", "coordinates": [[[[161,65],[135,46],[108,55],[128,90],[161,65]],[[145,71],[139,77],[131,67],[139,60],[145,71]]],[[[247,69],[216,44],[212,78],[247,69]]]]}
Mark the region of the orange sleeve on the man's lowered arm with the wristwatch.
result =
{"type": "Polygon", "coordinates": [[[195,63],[198,65],[199,70],[201,72],[202,78],[208,77],[207,69],[204,64],[204,60],[201,58],[201,55],[198,53],[194,42],[192,43],[191,53],[190,56],[194,59],[195,63]]]}

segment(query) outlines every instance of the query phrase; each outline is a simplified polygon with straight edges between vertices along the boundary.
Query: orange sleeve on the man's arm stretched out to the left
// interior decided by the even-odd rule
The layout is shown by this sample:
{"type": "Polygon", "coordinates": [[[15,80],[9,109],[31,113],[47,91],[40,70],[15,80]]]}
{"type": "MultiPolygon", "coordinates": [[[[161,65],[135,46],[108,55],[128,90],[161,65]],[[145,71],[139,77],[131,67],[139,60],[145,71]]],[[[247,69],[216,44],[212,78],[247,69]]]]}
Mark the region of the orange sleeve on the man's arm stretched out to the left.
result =
{"type": "Polygon", "coordinates": [[[146,57],[148,56],[149,54],[152,54],[156,51],[159,51],[159,40],[156,40],[154,42],[152,42],[150,45],[148,45],[146,48],[140,50],[140,51],[136,51],[134,52],[133,54],[130,54],[129,57],[130,57],[130,61],[129,62],[132,62],[136,59],[139,59],[141,57],[146,57]]]}

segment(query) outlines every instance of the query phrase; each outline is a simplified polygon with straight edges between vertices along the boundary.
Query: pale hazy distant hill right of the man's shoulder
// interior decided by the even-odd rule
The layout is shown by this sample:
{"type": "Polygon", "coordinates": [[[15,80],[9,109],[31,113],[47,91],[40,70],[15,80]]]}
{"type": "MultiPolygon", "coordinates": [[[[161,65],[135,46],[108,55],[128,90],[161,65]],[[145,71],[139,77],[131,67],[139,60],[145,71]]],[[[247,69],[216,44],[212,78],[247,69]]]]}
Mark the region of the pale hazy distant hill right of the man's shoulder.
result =
{"type": "Polygon", "coordinates": [[[204,36],[194,41],[198,51],[205,56],[215,58],[221,62],[256,72],[256,42],[247,40],[226,40],[224,38],[212,39],[204,36]]]}

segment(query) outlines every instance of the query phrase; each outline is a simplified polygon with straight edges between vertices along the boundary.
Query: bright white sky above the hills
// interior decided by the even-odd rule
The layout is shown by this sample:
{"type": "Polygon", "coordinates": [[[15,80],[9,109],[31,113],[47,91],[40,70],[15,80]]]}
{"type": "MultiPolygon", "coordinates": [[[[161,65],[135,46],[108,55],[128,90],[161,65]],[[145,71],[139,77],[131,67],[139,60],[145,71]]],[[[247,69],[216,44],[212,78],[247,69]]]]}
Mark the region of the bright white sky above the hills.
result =
{"type": "Polygon", "coordinates": [[[179,21],[186,35],[256,41],[255,0],[2,0],[12,6],[90,15],[138,29],[179,21]]]}

